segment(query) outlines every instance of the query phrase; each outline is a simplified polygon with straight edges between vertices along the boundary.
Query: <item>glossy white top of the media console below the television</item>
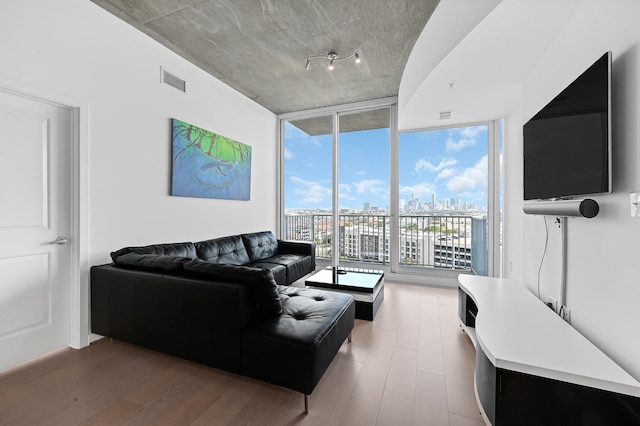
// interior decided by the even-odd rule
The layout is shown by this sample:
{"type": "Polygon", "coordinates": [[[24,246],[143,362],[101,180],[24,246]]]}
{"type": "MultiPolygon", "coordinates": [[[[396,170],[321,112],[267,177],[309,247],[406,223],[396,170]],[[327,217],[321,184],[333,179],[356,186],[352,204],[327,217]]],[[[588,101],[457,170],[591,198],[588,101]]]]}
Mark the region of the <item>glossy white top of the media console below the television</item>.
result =
{"type": "Polygon", "coordinates": [[[475,333],[465,331],[495,367],[640,397],[640,382],[519,282],[458,281],[478,306],[475,333]]]}

